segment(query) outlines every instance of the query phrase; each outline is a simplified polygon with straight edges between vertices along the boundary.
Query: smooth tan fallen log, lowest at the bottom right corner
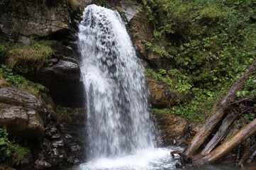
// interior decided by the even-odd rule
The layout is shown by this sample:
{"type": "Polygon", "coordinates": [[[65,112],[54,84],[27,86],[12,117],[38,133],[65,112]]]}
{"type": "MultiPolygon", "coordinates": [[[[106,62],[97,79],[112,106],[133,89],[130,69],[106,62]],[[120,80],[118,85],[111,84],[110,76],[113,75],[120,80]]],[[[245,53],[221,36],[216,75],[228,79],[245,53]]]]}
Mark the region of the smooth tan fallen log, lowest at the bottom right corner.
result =
{"type": "Polygon", "coordinates": [[[213,164],[218,162],[221,158],[229,154],[230,152],[241,145],[247,138],[255,135],[256,133],[256,119],[245,126],[242,130],[238,131],[233,137],[224,142],[222,145],[214,149],[209,154],[206,154],[203,158],[194,162],[197,166],[204,164],[213,164]]]}

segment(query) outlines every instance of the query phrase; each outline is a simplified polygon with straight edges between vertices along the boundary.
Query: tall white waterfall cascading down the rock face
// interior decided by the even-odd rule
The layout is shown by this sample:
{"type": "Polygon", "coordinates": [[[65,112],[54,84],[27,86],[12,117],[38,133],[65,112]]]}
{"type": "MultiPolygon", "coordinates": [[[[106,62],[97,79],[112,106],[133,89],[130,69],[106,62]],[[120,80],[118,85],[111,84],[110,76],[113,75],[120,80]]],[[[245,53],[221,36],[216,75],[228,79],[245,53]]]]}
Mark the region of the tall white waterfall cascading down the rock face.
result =
{"type": "Polygon", "coordinates": [[[78,45],[86,92],[87,158],[154,147],[144,68],[117,11],[90,5],[78,45]]]}

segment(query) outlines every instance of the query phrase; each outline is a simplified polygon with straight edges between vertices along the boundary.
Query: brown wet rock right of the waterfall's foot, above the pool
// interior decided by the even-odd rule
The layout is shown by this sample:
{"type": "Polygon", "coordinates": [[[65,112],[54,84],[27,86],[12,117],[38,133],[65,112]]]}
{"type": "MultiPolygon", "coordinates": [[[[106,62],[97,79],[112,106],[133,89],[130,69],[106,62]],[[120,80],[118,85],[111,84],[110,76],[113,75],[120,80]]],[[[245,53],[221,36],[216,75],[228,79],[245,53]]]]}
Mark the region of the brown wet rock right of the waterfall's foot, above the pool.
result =
{"type": "Polygon", "coordinates": [[[174,115],[153,114],[155,115],[157,128],[160,130],[160,146],[187,145],[188,142],[185,140],[186,120],[174,115]]]}

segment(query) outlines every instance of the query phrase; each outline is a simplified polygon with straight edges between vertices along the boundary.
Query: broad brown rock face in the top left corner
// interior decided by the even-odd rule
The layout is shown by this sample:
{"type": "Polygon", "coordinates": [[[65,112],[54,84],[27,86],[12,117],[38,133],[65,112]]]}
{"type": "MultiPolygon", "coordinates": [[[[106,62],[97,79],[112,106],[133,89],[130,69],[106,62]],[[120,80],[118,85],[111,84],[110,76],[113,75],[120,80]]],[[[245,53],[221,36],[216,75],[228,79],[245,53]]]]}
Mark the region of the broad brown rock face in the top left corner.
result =
{"type": "Polygon", "coordinates": [[[68,28],[69,13],[64,3],[9,0],[0,6],[0,29],[6,35],[47,36],[68,28]]]}

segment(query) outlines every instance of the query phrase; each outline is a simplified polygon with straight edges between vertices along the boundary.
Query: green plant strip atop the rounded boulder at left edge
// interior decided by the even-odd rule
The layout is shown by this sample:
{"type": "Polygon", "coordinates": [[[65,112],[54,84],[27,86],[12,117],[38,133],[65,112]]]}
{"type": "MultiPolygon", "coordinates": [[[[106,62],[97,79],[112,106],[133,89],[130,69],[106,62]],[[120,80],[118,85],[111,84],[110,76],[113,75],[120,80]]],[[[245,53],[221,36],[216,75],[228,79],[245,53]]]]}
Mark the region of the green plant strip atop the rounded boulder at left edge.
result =
{"type": "Polygon", "coordinates": [[[0,76],[3,77],[7,82],[16,86],[20,89],[30,92],[35,95],[42,95],[48,91],[48,89],[42,84],[33,83],[32,81],[28,81],[24,77],[15,74],[13,69],[6,67],[6,65],[1,65],[0,67],[0,76]]]}

